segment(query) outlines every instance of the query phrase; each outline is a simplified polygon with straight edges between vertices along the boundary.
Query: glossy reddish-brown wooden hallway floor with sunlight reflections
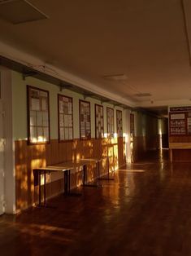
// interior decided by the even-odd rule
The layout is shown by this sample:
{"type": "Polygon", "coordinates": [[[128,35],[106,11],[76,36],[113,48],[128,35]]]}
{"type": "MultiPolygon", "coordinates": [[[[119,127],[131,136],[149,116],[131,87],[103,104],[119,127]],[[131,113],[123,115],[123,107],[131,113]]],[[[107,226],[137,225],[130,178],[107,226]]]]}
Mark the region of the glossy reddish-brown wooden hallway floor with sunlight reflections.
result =
{"type": "Polygon", "coordinates": [[[0,217],[0,255],[191,255],[191,164],[152,156],[102,184],[0,217]]]}

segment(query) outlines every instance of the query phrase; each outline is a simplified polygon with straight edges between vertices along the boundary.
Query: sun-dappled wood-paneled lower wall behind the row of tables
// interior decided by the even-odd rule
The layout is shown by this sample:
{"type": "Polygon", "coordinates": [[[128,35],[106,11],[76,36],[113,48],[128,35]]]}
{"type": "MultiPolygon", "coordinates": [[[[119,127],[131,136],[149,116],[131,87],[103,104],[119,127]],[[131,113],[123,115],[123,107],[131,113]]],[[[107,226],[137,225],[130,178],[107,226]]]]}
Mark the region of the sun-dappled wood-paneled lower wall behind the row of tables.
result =
{"type": "MultiPolygon", "coordinates": [[[[113,155],[110,161],[110,170],[114,166],[125,165],[125,150],[123,138],[118,139],[115,145],[110,144],[113,155]]],[[[51,139],[49,144],[28,145],[27,141],[15,141],[15,184],[16,184],[16,210],[24,210],[37,202],[37,183],[34,183],[33,169],[42,166],[50,166],[63,161],[76,160],[83,157],[106,156],[108,145],[104,139],[80,140],[59,143],[58,139],[51,139]]],[[[107,161],[102,162],[101,174],[107,171],[107,161]]],[[[96,178],[95,165],[88,166],[88,179],[96,178]]],[[[48,175],[47,196],[55,196],[63,192],[63,176],[48,175]]],[[[72,188],[82,183],[81,172],[76,172],[71,177],[72,188]]]]}

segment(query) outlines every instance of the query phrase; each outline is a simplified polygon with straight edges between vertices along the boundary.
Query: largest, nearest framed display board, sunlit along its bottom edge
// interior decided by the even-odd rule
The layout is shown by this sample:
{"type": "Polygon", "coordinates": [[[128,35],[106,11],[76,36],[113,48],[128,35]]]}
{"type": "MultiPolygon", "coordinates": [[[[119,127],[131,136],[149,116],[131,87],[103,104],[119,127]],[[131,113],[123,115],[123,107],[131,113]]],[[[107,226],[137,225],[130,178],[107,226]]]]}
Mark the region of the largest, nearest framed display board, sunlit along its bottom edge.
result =
{"type": "Polygon", "coordinates": [[[28,143],[50,142],[49,91],[27,86],[28,143]]]}

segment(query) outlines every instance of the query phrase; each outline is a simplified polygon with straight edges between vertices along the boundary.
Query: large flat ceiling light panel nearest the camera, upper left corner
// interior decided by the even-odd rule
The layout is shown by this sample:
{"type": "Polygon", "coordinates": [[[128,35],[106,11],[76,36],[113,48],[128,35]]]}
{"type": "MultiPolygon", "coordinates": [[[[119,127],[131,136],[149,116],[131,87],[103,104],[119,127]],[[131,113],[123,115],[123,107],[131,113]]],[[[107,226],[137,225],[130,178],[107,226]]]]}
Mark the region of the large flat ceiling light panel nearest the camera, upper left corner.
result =
{"type": "Polygon", "coordinates": [[[20,24],[49,17],[28,0],[0,0],[0,18],[12,24],[20,24]]]}

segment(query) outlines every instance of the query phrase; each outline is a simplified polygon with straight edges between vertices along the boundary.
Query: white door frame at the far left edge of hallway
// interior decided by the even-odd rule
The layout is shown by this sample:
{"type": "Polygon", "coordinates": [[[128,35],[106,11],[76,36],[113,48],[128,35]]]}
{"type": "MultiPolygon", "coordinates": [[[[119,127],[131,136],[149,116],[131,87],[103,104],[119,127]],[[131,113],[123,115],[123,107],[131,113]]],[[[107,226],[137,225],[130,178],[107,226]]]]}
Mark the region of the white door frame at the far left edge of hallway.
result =
{"type": "Polygon", "coordinates": [[[0,66],[4,125],[4,212],[15,214],[15,140],[13,136],[12,94],[14,73],[0,66]]]}

